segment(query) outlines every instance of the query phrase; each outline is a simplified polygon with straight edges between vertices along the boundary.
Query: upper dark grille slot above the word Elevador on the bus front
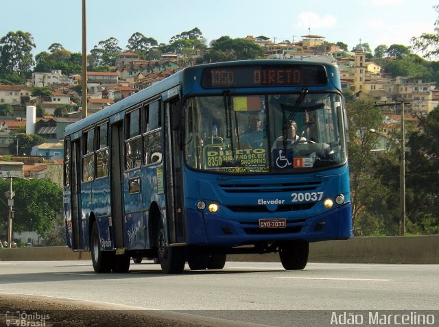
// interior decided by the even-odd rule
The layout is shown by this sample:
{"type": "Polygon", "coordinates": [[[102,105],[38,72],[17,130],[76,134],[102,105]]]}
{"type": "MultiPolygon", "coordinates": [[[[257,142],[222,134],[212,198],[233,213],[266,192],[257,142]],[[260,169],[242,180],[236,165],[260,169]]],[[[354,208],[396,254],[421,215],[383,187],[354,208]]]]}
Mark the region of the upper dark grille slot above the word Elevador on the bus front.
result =
{"type": "Polygon", "coordinates": [[[291,182],[278,184],[220,184],[219,187],[226,193],[271,193],[271,192],[298,192],[313,191],[322,182],[291,182]]]}

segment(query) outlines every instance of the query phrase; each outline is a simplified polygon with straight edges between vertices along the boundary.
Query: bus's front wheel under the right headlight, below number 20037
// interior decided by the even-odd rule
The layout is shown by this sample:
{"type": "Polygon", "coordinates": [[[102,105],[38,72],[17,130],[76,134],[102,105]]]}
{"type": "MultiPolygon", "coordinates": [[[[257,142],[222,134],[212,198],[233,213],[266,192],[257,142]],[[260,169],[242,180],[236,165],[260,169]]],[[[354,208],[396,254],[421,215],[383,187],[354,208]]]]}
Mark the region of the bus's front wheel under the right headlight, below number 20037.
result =
{"type": "Polygon", "coordinates": [[[300,270],[308,262],[309,243],[305,241],[284,242],[279,245],[279,256],[286,270],[300,270]]]}

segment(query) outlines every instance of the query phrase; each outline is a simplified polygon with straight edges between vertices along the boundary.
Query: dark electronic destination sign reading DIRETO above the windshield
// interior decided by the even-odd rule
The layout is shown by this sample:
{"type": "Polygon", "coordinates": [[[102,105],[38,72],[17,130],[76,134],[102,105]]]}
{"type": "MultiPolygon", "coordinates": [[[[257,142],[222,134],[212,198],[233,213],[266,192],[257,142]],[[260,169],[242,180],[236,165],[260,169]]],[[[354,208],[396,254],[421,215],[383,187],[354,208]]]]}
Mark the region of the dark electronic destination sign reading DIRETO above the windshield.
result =
{"type": "Polygon", "coordinates": [[[318,86],[327,83],[327,72],[320,64],[206,68],[201,80],[204,88],[318,86]]]}

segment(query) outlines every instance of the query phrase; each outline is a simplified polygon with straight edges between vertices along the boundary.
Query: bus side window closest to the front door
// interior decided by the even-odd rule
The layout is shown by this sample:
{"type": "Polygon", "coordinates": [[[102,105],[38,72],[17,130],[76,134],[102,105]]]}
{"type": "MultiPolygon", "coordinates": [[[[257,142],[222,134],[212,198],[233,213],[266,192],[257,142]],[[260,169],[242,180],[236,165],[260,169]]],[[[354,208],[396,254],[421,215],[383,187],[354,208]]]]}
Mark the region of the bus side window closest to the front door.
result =
{"type": "Polygon", "coordinates": [[[144,107],[145,123],[143,136],[143,158],[145,165],[158,164],[162,161],[162,122],[161,101],[154,101],[144,107]]]}

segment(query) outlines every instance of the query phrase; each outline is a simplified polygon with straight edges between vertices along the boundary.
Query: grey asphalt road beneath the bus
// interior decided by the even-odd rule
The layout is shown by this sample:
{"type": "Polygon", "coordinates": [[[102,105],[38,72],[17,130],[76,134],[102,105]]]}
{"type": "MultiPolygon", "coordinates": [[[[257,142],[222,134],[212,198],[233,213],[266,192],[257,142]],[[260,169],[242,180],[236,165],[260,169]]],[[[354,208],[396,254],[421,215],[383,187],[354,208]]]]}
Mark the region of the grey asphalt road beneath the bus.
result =
{"type": "Polygon", "coordinates": [[[399,314],[439,326],[438,276],[439,265],[228,262],[164,275],[149,261],[128,274],[95,274],[88,261],[0,262],[0,316],[34,308],[52,313],[47,323],[62,317],[59,326],[331,326],[355,313],[367,326],[399,314]],[[78,308],[81,319],[70,314],[78,308]]]}

